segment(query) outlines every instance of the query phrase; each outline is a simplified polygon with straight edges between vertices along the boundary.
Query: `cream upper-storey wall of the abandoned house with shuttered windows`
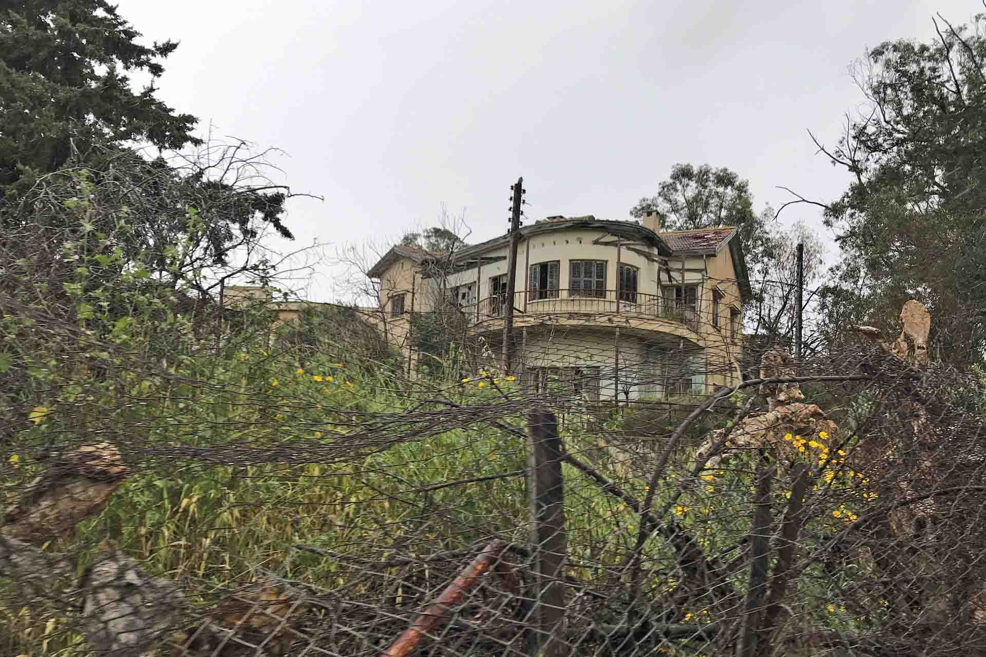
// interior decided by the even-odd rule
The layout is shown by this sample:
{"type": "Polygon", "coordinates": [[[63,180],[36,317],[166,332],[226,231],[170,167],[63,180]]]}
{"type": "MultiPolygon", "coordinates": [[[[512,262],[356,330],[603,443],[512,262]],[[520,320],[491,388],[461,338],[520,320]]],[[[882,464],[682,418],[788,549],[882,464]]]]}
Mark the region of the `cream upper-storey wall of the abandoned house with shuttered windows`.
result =
{"type": "MultiPolygon", "coordinates": [[[[676,313],[710,337],[718,333],[728,339],[741,332],[738,268],[730,248],[662,257],[658,249],[640,242],[616,244],[616,237],[600,230],[522,236],[515,307],[524,312],[636,307],[652,314],[676,313]]],[[[381,305],[391,316],[448,307],[450,302],[476,320],[499,315],[506,306],[508,248],[501,242],[469,253],[456,268],[441,262],[422,266],[403,258],[381,277],[381,305]]]]}

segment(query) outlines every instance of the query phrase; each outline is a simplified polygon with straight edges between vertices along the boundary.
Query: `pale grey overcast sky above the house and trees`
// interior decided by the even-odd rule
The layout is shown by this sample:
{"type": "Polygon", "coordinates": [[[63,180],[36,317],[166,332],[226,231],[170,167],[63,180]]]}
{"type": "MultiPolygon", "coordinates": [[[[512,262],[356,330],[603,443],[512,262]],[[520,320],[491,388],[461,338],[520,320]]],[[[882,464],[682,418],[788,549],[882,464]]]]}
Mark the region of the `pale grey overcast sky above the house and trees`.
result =
{"type": "MultiPolygon", "coordinates": [[[[464,211],[470,242],[528,221],[627,219],[679,162],[729,166],[754,207],[831,200],[815,154],[862,101],[849,66],[891,38],[935,37],[971,0],[325,2],[118,0],[147,41],[180,41],[159,97],[276,159],[299,245],[396,239],[464,211]]],[[[809,206],[785,211],[788,226],[809,206]]],[[[829,256],[834,258],[834,248],[829,256]]],[[[337,296],[326,262],[309,290],[337,296]]]]}

